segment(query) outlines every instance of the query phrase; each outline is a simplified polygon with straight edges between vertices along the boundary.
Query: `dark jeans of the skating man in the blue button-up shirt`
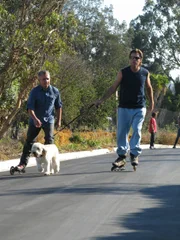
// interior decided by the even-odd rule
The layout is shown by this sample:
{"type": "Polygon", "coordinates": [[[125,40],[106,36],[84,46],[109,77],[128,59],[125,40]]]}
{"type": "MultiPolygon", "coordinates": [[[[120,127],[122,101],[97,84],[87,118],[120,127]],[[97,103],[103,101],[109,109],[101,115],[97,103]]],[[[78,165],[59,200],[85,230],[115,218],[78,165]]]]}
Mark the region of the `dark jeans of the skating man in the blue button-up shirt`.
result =
{"type": "Polygon", "coordinates": [[[41,128],[35,127],[33,124],[29,124],[28,131],[27,131],[27,138],[26,142],[23,147],[23,153],[20,158],[20,165],[27,165],[28,160],[31,154],[31,147],[33,143],[36,141],[36,137],[38,136],[39,132],[43,129],[45,134],[45,144],[52,144],[54,143],[54,123],[45,123],[42,125],[41,128]]]}

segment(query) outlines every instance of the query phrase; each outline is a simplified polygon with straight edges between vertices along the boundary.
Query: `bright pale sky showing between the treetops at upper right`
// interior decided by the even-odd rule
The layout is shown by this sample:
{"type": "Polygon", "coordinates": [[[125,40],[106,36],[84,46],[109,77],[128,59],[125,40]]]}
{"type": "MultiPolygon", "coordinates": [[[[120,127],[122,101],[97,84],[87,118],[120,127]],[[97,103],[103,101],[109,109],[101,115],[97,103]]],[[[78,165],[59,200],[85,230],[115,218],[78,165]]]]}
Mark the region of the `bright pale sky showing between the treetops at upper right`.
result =
{"type": "MultiPolygon", "coordinates": [[[[104,5],[113,5],[114,18],[118,19],[120,23],[126,21],[129,25],[130,21],[138,15],[143,14],[143,7],[145,0],[104,0],[104,5]]],[[[180,76],[180,70],[171,71],[171,76],[176,78],[180,76]]]]}

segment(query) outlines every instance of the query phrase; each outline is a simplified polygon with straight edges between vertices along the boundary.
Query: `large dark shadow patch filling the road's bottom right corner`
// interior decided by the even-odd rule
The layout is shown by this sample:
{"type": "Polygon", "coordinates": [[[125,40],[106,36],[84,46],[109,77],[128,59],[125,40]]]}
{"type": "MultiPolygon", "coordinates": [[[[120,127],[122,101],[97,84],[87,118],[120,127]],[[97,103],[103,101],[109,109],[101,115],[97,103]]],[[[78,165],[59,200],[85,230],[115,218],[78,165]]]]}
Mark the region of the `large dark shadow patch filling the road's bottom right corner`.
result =
{"type": "Polygon", "coordinates": [[[155,208],[142,209],[116,219],[115,224],[127,229],[106,237],[91,240],[179,240],[180,185],[145,188],[140,191],[148,199],[158,200],[155,208]]]}

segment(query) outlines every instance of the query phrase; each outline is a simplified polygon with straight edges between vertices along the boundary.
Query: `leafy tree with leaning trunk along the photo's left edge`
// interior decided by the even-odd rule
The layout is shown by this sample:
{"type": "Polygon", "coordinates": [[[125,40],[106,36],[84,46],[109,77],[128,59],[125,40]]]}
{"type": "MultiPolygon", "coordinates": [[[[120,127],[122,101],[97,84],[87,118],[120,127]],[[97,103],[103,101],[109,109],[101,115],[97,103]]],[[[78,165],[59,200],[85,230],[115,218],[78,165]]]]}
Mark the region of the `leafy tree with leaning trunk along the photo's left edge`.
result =
{"type": "Polygon", "coordinates": [[[36,83],[47,55],[60,56],[59,38],[65,0],[2,0],[0,3],[0,138],[36,83]]]}

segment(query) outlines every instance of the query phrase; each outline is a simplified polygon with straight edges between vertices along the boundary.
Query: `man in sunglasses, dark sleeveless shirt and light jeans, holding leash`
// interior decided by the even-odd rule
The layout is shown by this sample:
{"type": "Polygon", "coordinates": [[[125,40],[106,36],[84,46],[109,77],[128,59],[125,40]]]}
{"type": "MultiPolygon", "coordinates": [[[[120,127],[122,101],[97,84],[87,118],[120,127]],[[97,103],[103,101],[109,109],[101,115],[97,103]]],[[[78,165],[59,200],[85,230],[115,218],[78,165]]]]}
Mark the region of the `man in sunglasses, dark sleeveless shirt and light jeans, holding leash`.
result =
{"type": "Polygon", "coordinates": [[[117,154],[118,158],[113,163],[113,168],[122,168],[126,164],[126,156],[130,150],[131,164],[136,169],[138,156],[141,154],[140,147],[141,129],[146,115],[145,88],[150,102],[150,111],[153,111],[153,89],[149,72],[141,67],[143,53],[134,49],[129,54],[130,66],[122,69],[117,74],[116,81],[108,89],[105,95],[95,101],[99,106],[108,99],[119,87],[118,128],[117,128],[117,154]],[[128,141],[130,128],[133,134],[128,141]]]}

